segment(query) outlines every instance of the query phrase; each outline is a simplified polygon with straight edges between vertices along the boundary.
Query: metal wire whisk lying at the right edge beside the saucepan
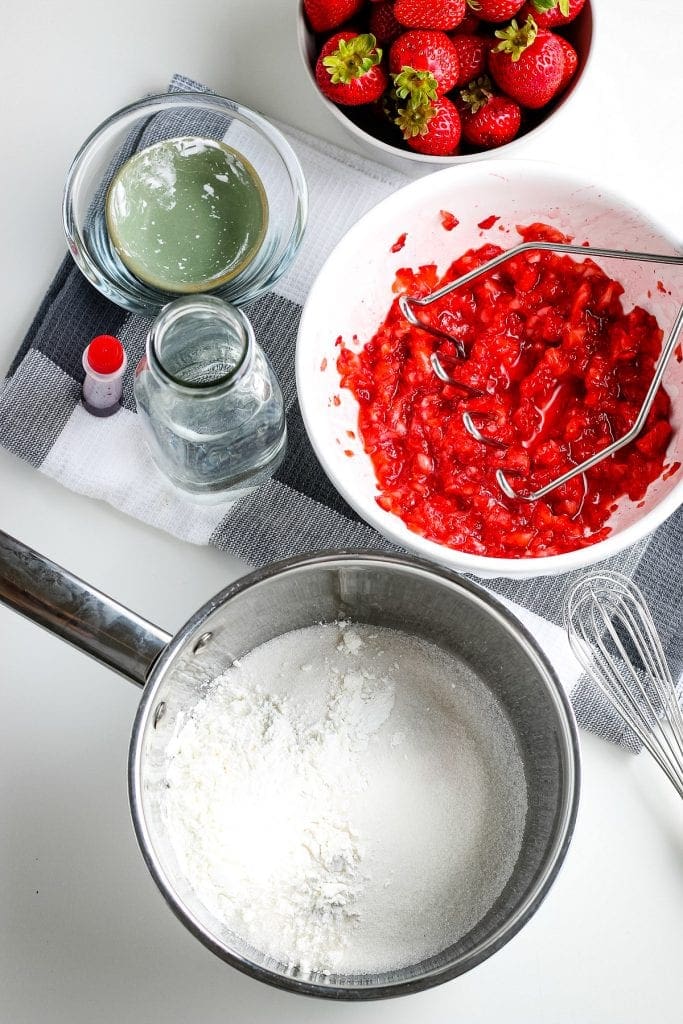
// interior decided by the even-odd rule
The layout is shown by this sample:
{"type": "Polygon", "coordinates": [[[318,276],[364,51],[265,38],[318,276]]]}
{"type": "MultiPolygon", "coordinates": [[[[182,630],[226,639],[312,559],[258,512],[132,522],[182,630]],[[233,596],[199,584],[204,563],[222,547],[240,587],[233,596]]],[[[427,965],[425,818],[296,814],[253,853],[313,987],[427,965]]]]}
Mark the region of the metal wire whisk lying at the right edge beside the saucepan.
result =
{"type": "Polygon", "coordinates": [[[589,572],[568,593],[564,622],[585,672],[683,797],[680,694],[638,587],[618,572],[589,572]]]}

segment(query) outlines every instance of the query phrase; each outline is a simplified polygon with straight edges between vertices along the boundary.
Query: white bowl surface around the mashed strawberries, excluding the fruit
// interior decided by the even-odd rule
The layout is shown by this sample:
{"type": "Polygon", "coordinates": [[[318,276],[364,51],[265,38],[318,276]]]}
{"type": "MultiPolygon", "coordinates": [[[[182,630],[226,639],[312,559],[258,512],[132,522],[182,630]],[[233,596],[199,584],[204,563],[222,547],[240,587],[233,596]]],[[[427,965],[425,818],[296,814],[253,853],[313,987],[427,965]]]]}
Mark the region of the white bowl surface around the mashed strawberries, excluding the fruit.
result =
{"type": "MultiPolygon", "coordinates": [[[[539,220],[595,246],[667,254],[681,249],[664,225],[624,198],[551,164],[496,160],[446,168],[394,193],[347,232],[313,284],[299,327],[299,401],[308,436],[334,485],[388,540],[480,577],[545,575],[592,564],[634,544],[683,503],[683,470],[679,469],[669,479],[650,485],[642,507],[623,500],[604,541],[562,555],[518,559],[467,554],[427,541],[377,504],[370,458],[360,441],[346,433],[356,429],[358,410],[351,392],[339,386],[336,339],[341,335],[349,343],[355,335],[360,347],[372,337],[389,309],[398,268],[436,262],[442,273],[456,256],[484,241],[512,247],[521,241],[515,225],[539,220]],[[452,231],[441,225],[442,209],[460,220],[452,231]],[[500,219],[490,229],[479,229],[477,224],[490,214],[500,219]],[[511,232],[501,227],[510,227],[511,232]],[[392,244],[403,232],[403,249],[392,253],[392,244]],[[339,404],[333,401],[337,395],[339,404]],[[345,450],[351,450],[353,458],[345,450]]],[[[680,282],[676,268],[613,259],[598,262],[625,286],[625,308],[644,306],[665,333],[669,331],[681,301],[680,286],[675,287],[680,282]],[[665,290],[657,288],[658,281],[667,286],[665,290]]],[[[665,386],[674,406],[674,436],[667,458],[683,462],[683,362],[672,358],[665,386]]]]}

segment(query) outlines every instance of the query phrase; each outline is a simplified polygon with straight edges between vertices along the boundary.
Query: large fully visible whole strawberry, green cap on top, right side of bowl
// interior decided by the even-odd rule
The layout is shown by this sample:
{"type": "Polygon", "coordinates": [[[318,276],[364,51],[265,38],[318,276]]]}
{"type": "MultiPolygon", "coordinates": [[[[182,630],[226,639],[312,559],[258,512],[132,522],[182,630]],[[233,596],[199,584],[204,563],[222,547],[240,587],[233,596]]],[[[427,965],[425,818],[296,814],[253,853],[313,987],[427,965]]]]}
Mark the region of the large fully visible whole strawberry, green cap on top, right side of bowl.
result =
{"type": "Polygon", "coordinates": [[[564,73],[557,36],[539,30],[529,16],[521,27],[513,18],[496,37],[500,43],[488,54],[488,70],[498,87],[522,106],[545,106],[559,91],[564,73]]]}

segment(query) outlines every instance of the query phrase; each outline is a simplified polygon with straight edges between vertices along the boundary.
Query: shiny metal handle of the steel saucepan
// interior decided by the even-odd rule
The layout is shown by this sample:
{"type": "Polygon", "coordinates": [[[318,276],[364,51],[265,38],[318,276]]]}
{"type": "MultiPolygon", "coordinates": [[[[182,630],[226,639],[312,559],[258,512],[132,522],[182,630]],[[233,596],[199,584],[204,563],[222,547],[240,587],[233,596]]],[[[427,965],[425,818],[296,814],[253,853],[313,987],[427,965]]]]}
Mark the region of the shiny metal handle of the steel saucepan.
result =
{"type": "Polygon", "coordinates": [[[171,636],[0,530],[0,601],[144,686],[171,636]]]}

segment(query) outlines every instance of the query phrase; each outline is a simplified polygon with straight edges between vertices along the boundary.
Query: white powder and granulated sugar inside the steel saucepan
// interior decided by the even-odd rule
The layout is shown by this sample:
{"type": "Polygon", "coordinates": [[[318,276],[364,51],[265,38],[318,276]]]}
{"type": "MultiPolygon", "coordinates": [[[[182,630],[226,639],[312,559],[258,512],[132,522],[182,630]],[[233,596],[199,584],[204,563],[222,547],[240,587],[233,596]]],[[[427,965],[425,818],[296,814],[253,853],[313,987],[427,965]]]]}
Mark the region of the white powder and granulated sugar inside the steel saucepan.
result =
{"type": "Polygon", "coordinates": [[[207,911],[303,973],[375,973],[464,935],[526,812],[512,729],[462,662],[312,626],[256,648],[176,724],[164,814],[207,911]]]}

